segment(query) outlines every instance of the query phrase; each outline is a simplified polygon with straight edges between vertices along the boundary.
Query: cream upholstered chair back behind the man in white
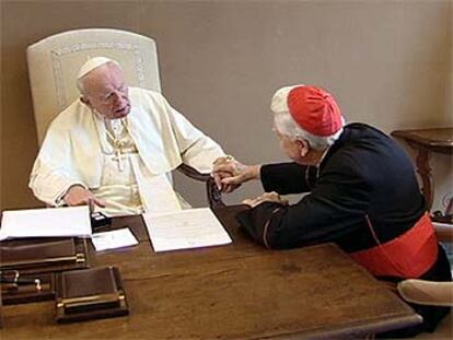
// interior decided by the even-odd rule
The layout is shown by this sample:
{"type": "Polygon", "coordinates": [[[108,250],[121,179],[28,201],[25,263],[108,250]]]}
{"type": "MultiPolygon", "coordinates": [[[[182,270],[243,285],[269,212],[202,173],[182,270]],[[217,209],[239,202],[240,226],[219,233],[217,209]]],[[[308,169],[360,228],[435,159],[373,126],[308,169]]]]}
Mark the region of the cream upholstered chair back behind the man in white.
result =
{"type": "Polygon", "coordinates": [[[77,72],[92,57],[117,60],[131,86],[161,91],[153,39],[119,30],[88,28],[53,35],[27,48],[38,144],[50,121],[78,96],[77,72]]]}

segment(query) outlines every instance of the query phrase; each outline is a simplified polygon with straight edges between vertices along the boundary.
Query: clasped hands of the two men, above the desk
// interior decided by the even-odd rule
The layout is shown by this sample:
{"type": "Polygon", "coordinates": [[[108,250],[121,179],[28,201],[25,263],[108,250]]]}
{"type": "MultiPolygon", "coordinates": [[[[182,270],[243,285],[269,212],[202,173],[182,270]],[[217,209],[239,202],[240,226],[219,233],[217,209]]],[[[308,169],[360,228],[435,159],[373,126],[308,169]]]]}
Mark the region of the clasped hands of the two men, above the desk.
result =
{"type": "Polygon", "coordinates": [[[259,179],[260,167],[260,165],[244,165],[232,156],[224,156],[213,162],[212,176],[219,190],[231,192],[245,181],[259,179]]]}

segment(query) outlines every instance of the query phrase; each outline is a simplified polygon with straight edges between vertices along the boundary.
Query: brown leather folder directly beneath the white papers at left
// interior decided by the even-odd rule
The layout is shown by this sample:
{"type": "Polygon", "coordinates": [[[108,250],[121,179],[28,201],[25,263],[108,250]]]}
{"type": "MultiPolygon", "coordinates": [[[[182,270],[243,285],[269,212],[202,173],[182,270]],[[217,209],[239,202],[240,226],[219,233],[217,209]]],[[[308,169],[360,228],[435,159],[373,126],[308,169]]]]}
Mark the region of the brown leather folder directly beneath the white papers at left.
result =
{"type": "Polygon", "coordinates": [[[18,270],[21,274],[88,268],[88,242],[84,238],[0,243],[0,270],[18,270]]]}

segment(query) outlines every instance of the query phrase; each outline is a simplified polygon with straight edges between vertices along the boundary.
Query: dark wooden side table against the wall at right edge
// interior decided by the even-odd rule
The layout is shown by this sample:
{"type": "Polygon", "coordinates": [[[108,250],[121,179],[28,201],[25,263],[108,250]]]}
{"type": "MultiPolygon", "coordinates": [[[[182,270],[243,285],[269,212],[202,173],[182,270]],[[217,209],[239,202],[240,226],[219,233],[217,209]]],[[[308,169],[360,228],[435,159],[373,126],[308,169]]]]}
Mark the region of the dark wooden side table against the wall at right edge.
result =
{"type": "Polygon", "coordinates": [[[417,151],[416,164],[422,181],[421,190],[427,209],[431,210],[434,188],[429,165],[430,154],[431,152],[453,154],[453,128],[395,130],[391,134],[405,140],[417,151]]]}

